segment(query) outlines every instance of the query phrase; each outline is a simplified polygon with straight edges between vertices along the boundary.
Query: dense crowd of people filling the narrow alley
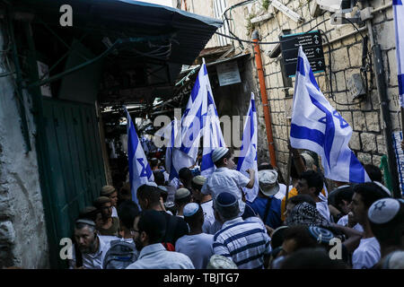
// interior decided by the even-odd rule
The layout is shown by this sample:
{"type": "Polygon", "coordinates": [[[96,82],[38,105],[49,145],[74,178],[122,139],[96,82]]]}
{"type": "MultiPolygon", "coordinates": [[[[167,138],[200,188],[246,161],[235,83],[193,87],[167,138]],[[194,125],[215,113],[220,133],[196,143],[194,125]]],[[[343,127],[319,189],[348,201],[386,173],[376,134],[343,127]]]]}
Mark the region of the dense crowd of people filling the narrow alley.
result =
{"type": "Polygon", "coordinates": [[[372,182],[330,184],[310,154],[292,153],[288,182],[261,163],[256,183],[256,171],[235,170],[224,147],[212,153],[208,178],[183,168],[170,181],[151,159],[154,182],[138,187],[138,204],[129,183],[105,186],[80,213],[69,267],[404,268],[404,200],[392,198],[381,170],[364,165],[372,182]],[[256,184],[250,202],[242,187],[256,184]]]}

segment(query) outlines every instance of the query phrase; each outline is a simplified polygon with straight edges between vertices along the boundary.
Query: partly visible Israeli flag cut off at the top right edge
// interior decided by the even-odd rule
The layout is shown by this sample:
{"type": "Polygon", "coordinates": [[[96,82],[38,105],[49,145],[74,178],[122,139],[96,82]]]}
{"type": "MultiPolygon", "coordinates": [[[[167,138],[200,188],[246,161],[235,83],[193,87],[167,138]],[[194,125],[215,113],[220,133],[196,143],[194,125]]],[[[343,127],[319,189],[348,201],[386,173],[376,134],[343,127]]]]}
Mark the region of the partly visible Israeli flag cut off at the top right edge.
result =
{"type": "Polygon", "coordinates": [[[400,105],[404,108],[404,4],[393,0],[394,28],[396,31],[397,76],[399,78],[400,105]]]}

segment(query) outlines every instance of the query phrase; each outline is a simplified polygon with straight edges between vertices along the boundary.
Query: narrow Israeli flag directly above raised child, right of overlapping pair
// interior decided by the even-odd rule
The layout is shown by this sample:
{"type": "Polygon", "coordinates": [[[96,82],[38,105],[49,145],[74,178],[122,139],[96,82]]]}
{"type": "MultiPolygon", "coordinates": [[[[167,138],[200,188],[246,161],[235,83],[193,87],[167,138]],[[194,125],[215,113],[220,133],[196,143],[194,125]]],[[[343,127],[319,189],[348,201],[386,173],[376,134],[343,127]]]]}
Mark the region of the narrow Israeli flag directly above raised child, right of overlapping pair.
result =
{"type": "MultiPolygon", "coordinates": [[[[207,80],[209,81],[209,79],[207,80]]],[[[220,128],[220,120],[217,114],[215,100],[213,98],[212,89],[210,83],[208,83],[208,89],[206,91],[206,116],[203,120],[205,125],[203,126],[203,151],[202,151],[202,163],[200,165],[200,174],[205,178],[208,178],[212,172],[215,171],[215,163],[212,161],[212,152],[216,148],[225,146],[222,129],[220,128]]],[[[205,104],[205,102],[204,102],[205,104]]]]}

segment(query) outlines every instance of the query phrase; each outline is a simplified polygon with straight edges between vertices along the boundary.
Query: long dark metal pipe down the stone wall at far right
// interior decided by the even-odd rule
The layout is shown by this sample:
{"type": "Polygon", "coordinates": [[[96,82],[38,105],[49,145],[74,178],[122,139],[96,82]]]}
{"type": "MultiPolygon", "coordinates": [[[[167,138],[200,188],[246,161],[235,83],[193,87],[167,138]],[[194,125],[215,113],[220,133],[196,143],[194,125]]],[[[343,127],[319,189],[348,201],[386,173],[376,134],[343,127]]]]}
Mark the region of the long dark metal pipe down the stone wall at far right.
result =
{"type": "Polygon", "coordinates": [[[391,185],[392,193],[395,198],[401,198],[400,193],[400,182],[399,182],[399,171],[397,170],[396,155],[393,150],[392,143],[392,127],[391,127],[391,116],[389,109],[389,99],[387,96],[387,85],[384,76],[384,66],[382,59],[382,49],[379,44],[376,43],[373,37],[372,19],[366,21],[366,27],[368,30],[368,35],[371,43],[371,48],[373,51],[373,69],[376,77],[376,86],[380,101],[380,110],[382,112],[382,120],[384,124],[383,132],[384,138],[386,140],[387,149],[387,159],[389,162],[389,170],[391,172],[391,185]]]}

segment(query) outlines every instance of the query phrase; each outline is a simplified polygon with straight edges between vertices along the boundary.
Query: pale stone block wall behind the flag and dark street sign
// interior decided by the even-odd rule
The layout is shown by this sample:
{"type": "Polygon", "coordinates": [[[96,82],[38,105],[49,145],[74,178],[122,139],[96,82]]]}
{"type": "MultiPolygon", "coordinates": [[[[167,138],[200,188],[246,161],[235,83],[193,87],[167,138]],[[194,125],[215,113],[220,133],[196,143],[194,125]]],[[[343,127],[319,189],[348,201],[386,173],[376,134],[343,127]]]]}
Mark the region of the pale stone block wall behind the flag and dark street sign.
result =
{"type": "MultiPolygon", "coordinates": [[[[312,18],[310,9],[313,1],[315,0],[280,1],[303,17],[304,22],[299,24],[285,16],[284,13],[269,6],[268,12],[274,12],[276,17],[255,25],[254,28],[259,31],[260,41],[277,41],[282,29],[291,29],[292,33],[304,32],[311,29],[323,30],[329,41],[355,30],[351,24],[330,25],[329,21],[323,22],[329,19],[329,12],[322,13],[320,16],[312,18]],[[321,23],[321,25],[314,28],[319,23],[321,23]]],[[[242,1],[227,1],[228,6],[240,2],[242,1]]],[[[388,3],[388,0],[372,1],[373,8],[388,3]]],[[[255,4],[247,4],[234,8],[232,13],[233,27],[236,28],[233,29],[233,32],[241,39],[250,39],[250,35],[246,35],[245,29],[248,19],[251,15],[261,15],[268,12],[263,10],[260,1],[255,4]]],[[[199,12],[195,11],[195,13],[199,12]]],[[[373,30],[377,41],[382,46],[382,60],[390,100],[392,128],[393,131],[399,131],[401,130],[400,104],[392,17],[391,7],[373,15],[373,30]]],[[[362,35],[366,34],[367,30],[363,30],[362,35]]],[[[213,40],[212,43],[214,44],[215,40],[213,40]]],[[[212,43],[208,43],[208,45],[212,43]]],[[[233,41],[233,44],[236,47],[239,45],[238,41],[233,41]]],[[[332,41],[330,44],[333,97],[331,97],[329,92],[329,45],[327,45],[325,37],[323,37],[323,44],[327,72],[315,74],[316,80],[331,105],[338,110],[352,127],[353,135],[349,146],[356,153],[359,161],[373,163],[378,166],[382,155],[386,154],[386,143],[382,131],[382,116],[374,74],[368,73],[370,92],[364,97],[364,100],[358,101],[356,104],[352,100],[347,99],[347,79],[351,74],[360,73],[360,67],[362,65],[362,36],[356,33],[352,36],[332,41]]],[[[250,48],[250,44],[243,45],[245,48],[250,48]]],[[[370,45],[368,46],[370,47],[370,45]]],[[[268,57],[268,52],[274,47],[274,44],[261,45],[260,49],[266,77],[273,135],[277,151],[277,162],[281,170],[285,170],[288,152],[286,140],[289,130],[286,114],[290,114],[290,110],[288,110],[287,107],[291,106],[292,100],[287,97],[287,93],[285,92],[285,83],[283,82],[281,74],[281,62],[279,57],[268,57]]],[[[251,70],[251,74],[255,75],[257,86],[259,86],[256,72],[251,70]]],[[[293,91],[293,89],[291,91],[293,91]]],[[[257,94],[257,97],[259,98],[259,94],[257,94]]],[[[259,102],[259,100],[257,100],[257,102],[259,102]]],[[[261,128],[265,128],[265,125],[261,126],[261,128]]],[[[265,136],[264,133],[259,134],[259,136],[263,135],[265,136]]],[[[259,145],[259,150],[261,154],[265,154],[268,152],[268,145],[259,145]]]]}

